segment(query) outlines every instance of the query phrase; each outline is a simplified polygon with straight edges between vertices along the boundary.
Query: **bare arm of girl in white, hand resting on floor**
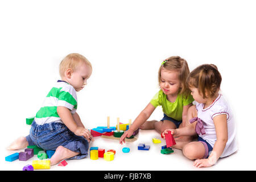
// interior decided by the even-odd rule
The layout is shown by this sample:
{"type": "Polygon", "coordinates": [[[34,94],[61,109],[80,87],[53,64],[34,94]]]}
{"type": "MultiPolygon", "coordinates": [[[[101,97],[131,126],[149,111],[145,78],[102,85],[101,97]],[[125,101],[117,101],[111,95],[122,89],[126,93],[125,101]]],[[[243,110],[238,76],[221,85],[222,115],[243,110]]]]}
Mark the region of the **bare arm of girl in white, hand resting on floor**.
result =
{"type": "Polygon", "coordinates": [[[226,114],[217,115],[213,118],[213,123],[216,130],[217,140],[214,143],[212,153],[208,159],[197,159],[194,162],[196,167],[210,167],[213,166],[220,158],[226,142],[228,141],[228,123],[226,121],[226,114]]]}

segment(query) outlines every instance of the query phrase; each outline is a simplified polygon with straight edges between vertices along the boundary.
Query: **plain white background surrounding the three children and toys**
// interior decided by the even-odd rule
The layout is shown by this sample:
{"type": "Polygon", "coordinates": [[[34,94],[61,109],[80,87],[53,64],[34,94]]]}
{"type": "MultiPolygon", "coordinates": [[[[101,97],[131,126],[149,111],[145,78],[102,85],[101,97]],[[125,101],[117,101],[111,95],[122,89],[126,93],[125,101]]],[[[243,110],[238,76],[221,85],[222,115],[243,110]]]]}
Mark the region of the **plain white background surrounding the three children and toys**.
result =
{"type": "MultiPolygon", "coordinates": [[[[5,148],[28,134],[25,119],[35,115],[60,78],[63,57],[77,52],[93,65],[88,85],[77,93],[77,113],[88,129],[106,125],[108,115],[112,126],[117,117],[123,123],[134,120],[158,92],[158,68],[167,57],[183,57],[191,71],[204,63],[217,65],[222,94],[236,118],[239,151],[208,169],[255,170],[255,17],[254,1],[1,1],[0,169],[31,163],[5,162],[13,153],[5,148]]],[[[150,119],[161,118],[158,107],[150,119]]],[[[125,157],[117,142],[97,138],[92,146],[115,147],[120,159],[111,164],[69,160],[61,170],[196,169],[179,150],[160,154],[152,136],[159,137],[142,131],[137,141],[151,144],[147,156],[135,142],[125,157]],[[135,166],[139,159],[144,164],[135,166]],[[164,166],[167,162],[172,165],[164,166]]]]}

